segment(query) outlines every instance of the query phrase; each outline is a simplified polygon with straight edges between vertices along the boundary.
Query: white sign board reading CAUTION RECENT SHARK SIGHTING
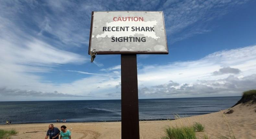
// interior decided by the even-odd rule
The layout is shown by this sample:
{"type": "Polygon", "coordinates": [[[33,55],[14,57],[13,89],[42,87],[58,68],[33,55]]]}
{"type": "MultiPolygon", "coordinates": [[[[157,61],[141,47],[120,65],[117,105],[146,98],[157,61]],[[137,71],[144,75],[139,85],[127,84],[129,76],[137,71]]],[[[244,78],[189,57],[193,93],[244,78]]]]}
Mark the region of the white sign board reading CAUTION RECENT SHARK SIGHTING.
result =
{"type": "Polygon", "coordinates": [[[92,12],[89,52],[168,54],[163,12],[92,12]]]}

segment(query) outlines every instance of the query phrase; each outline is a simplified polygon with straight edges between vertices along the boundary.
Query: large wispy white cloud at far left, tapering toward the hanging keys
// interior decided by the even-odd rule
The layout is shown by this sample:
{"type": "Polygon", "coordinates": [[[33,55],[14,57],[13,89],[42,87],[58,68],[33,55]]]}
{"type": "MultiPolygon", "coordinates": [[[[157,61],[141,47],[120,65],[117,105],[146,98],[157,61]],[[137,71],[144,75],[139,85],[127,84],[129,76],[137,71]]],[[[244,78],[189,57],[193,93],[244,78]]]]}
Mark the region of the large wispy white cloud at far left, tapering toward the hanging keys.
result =
{"type": "Polygon", "coordinates": [[[0,5],[0,87],[51,92],[55,90],[55,85],[46,81],[41,73],[53,72],[66,64],[82,64],[88,60],[38,37],[35,28],[23,23],[32,23],[33,20],[19,20],[28,16],[23,13],[24,9],[33,8],[37,2],[31,2],[29,7],[24,5],[26,3],[3,1],[0,5]]]}

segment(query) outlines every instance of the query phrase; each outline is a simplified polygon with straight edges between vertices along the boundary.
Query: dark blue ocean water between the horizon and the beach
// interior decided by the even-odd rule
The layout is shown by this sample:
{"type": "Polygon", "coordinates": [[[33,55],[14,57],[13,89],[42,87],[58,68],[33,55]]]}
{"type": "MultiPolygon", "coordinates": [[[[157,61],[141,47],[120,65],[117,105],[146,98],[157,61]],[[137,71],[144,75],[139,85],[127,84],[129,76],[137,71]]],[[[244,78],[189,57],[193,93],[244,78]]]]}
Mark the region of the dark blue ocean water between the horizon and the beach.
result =
{"type": "MultiPolygon", "coordinates": [[[[174,119],[174,114],[193,116],[232,107],[241,97],[140,99],[140,120],[174,119]]],[[[0,124],[100,122],[121,120],[121,100],[0,102],[0,124]]]]}

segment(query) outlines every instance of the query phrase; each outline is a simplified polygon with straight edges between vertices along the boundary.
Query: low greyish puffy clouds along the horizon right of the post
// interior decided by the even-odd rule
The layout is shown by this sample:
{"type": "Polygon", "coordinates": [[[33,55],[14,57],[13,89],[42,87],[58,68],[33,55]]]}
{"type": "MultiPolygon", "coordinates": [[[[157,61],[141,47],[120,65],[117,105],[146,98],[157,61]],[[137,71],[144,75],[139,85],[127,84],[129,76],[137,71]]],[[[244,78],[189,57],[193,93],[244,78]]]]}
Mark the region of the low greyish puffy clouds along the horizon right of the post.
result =
{"type": "Polygon", "coordinates": [[[255,89],[256,74],[237,78],[232,75],[225,79],[198,80],[194,83],[169,84],[144,87],[139,90],[144,98],[239,96],[243,91],[255,89]]]}

